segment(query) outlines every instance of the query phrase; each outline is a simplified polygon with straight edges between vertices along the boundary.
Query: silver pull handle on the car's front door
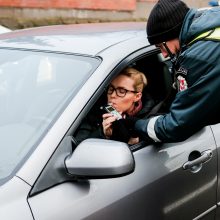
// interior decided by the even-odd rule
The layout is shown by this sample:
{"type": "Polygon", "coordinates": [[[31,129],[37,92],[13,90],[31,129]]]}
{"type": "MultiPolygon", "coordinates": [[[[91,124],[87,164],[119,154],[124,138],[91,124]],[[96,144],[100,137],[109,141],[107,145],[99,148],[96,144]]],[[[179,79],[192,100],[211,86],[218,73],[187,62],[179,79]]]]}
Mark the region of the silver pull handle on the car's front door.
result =
{"type": "Polygon", "coordinates": [[[192,161],[187,161],[183,164],[183,169],[192,169],[195,166],[202,165],[212,158],[212,150],[206,150],[201,153],[201,156],[192,161]]]}

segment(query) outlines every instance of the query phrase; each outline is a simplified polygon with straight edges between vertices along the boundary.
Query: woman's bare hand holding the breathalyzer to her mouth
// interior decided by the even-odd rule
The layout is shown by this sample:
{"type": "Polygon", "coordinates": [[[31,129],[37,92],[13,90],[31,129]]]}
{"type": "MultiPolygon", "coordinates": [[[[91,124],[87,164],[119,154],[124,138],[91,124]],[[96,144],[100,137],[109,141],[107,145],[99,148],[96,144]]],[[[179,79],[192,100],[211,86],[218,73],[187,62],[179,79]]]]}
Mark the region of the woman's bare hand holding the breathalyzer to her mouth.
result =
{"type": "Polygon", "coordinates": [[[116,121],[116,116],[113,116],[111,113],[106,113],[102,115],[103,121],[102,121],[102,127],[103,127],[103,133],[107,139],[109,139],[112,136],[112,123],[116,121]]]}

